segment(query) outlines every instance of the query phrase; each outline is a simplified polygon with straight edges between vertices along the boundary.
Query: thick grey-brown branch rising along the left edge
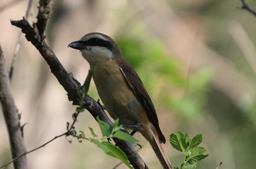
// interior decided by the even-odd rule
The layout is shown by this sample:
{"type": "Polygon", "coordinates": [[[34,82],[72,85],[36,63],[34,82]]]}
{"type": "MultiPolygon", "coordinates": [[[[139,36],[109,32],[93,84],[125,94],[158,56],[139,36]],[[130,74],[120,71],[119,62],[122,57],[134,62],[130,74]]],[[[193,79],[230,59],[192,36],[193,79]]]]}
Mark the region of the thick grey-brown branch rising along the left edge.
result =
{"type": "MultiPolygon", "coordinates": [[[[20,117],[14,103],[9,74],[6,68],[3,51],[0,46],[0,101],[6,126],[9,132],[9,141],[12,150],[12,158],[16,158],[26,152],[23,141],[22,130],[20,127],[20,117]]],[[[14,162],[15,169],[28,169],[26,156],[14,162]]]]}

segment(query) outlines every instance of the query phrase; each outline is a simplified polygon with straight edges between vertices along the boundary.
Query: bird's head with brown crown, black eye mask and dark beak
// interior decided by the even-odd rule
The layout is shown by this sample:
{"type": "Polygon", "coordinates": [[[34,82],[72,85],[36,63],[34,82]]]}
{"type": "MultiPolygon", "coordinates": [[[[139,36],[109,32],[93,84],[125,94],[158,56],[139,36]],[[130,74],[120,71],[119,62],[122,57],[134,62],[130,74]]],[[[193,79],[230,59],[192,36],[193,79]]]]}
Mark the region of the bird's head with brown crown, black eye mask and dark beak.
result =
{"type": "Polygon", "coordinates": [[[121,55],[118,45],[111,37],[97,32],[84,35],[68,47],[80,50],[90,65],[111,62],[121,55]]]}

